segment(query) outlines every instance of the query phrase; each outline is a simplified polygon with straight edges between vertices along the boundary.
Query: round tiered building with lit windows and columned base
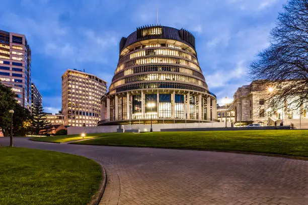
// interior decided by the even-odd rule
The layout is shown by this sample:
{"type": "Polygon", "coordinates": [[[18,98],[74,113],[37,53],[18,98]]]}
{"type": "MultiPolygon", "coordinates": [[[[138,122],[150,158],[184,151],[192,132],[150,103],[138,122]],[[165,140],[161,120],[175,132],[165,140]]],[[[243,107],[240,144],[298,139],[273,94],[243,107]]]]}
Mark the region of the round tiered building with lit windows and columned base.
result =
{"type": "Polygon", "coordinates": [[[208,90],[195,37],[165,26],[137,28],[120,41],[99,125],[211,122],[216,96],[208,90]]]}

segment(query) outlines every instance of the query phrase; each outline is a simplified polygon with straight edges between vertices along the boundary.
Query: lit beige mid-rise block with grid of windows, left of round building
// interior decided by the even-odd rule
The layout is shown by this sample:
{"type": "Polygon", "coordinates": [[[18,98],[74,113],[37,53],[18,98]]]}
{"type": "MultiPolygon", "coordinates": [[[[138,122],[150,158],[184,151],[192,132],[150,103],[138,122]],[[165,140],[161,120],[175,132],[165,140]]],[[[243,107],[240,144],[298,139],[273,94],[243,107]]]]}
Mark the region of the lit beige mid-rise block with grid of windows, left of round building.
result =
{"type": "Polygon", "coordinates": [[[64,125],[96,126],[100,121],[100,100],[106,94],[106,83],[95,75],[67,69],[62,75],[64,125]]]}

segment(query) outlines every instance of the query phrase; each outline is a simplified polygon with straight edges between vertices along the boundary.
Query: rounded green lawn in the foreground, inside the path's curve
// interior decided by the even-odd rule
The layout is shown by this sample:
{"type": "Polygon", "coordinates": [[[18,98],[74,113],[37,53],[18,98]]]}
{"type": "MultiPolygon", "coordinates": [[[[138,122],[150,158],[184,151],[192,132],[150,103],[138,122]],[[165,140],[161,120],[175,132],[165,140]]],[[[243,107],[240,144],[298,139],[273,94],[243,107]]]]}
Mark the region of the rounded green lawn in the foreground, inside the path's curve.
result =
{"type": "Polygon", "coordinates": [[[101,167],[76,155],[0,148],[0,204],[87,204],[99,188],[101,167]]]}

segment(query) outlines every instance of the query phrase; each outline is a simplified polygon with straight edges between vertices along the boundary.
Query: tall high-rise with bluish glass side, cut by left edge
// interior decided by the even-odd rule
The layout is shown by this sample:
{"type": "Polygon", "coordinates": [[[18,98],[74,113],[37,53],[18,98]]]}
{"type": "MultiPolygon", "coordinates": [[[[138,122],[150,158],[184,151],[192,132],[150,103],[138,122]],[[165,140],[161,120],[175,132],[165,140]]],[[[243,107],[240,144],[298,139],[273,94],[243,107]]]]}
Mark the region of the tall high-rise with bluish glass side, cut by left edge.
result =
{"type": "Polygon", "coordinates": [[[0,81],[31,111],[31,49],[25,35],[0,30],[0,81]]]}

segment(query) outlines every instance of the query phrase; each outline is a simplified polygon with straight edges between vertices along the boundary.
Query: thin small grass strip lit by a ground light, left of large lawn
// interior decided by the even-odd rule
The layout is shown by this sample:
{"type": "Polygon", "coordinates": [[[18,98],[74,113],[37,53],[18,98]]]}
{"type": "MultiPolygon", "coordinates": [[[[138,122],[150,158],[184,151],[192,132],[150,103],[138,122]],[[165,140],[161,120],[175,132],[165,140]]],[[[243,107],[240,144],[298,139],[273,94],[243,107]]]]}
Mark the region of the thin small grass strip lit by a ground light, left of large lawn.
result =
{"type": "MultiPolygon", "coordinates": [[[[103,137],[107,133],[95,133],[95,134],[87,134],[84,139],[94,138],[94,137],[103,137]]],[[[83,137],[81,135],[59,135],[59,136],[50,136],[50,137],[34,137],[31,138],[33,141],[39,142],[53,142],[53,143],[62,143],[62,142],[70,142],[75,140],[82,140],[83,137]]]]}

